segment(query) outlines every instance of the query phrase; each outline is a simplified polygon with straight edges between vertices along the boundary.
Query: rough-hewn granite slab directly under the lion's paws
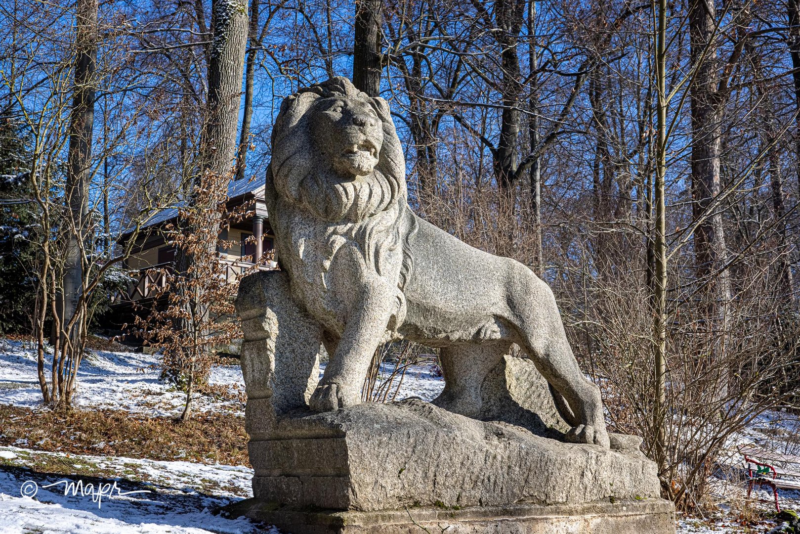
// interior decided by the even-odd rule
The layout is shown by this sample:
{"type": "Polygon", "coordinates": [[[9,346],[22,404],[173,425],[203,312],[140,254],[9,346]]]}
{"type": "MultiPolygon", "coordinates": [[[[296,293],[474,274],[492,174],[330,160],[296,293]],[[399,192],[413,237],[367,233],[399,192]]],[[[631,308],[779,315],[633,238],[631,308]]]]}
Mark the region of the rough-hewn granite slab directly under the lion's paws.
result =
{"type": "Polygon", "coordinates": [[[250,441],[254,495],[374,512],[406,506],[580,504],[656,499],[640,452],[564,444],[417,399],[298,413],[250,441]]]}

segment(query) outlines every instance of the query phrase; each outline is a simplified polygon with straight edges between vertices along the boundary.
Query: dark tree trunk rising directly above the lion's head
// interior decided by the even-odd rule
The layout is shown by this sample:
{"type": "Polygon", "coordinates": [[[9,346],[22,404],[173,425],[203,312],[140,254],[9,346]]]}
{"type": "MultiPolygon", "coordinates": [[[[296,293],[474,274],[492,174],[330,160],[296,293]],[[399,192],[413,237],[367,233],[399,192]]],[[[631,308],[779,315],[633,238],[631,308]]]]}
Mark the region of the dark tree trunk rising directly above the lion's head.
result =
{"type": "Polygon", "coordinates": [[[356,0],[353,85],[370,96],[381,94],[381,0],[356,0]]]}

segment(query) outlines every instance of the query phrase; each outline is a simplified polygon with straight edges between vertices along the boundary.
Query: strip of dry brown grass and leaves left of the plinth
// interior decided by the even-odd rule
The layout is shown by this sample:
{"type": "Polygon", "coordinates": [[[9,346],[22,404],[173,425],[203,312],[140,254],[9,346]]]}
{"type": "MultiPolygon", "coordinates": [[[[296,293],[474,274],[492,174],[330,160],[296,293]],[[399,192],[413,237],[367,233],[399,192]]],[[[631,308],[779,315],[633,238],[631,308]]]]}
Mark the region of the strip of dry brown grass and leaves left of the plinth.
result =
{"type": "Polygon", "coordinates": [[[2,406],[0,445],[250,466],[244,418],[216,413],[197,413],[191,420],[180,421],[114,410],[59,413],[2,406]]]}

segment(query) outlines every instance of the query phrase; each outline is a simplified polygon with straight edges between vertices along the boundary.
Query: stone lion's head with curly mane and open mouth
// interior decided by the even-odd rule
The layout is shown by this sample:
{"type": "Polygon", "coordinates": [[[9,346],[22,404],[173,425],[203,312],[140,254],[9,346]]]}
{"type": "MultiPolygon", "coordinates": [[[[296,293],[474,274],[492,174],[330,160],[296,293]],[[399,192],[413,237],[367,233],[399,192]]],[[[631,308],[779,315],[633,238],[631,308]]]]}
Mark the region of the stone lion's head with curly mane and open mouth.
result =
{"type": "Polygon", "coordinates": [[[283,101],[270,173],[278,195],[330,222],[362,221],[406,202],[406,168],[389,106],[347,78],[283,101]]]}

